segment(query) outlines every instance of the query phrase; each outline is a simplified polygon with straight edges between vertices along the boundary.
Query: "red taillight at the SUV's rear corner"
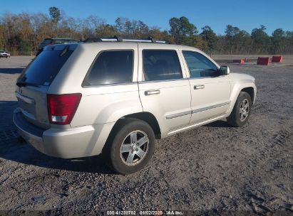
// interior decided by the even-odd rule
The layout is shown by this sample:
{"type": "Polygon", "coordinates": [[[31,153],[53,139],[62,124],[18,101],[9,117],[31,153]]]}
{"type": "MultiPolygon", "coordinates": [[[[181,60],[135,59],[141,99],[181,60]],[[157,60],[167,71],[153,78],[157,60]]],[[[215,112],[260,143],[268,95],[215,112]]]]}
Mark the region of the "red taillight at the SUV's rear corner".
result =
{"type": "Polygon", "coordinates": [[[81,101],[81,93],[48,95],[48,117],[51,124],[70,124],[81,101]]]}

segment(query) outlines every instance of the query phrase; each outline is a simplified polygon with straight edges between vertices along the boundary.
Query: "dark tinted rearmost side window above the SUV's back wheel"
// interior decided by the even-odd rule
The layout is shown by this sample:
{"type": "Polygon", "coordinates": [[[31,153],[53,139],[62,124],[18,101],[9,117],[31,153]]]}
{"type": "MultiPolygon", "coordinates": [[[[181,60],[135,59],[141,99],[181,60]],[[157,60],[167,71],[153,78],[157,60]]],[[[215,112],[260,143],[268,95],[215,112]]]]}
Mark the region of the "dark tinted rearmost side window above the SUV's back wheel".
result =
{"type": "Polygon", "coordinates": [[[133,50],[103,51],[86,77],[86,85],[132,82],[133,50]]]}

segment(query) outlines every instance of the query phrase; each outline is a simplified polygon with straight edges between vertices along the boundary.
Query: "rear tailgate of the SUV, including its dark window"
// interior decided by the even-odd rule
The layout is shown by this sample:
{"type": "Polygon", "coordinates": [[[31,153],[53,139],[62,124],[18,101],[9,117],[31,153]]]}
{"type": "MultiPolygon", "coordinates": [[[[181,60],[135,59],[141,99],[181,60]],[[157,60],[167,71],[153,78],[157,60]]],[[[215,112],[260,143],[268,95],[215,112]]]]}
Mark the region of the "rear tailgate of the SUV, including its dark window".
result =
{"type": "Polygon", "coordinates": [[[76,45],[52,45],[38,55],[16,82],[16,97],[23,117],[43,129],[48,121],[47,92],[76,45]]]}

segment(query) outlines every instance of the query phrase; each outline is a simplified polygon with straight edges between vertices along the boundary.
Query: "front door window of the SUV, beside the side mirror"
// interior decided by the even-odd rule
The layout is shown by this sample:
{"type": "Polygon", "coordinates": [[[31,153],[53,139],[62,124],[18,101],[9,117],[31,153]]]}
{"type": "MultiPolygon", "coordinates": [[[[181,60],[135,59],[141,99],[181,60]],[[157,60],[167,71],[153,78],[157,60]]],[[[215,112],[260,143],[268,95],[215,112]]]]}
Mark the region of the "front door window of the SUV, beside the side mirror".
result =
{"type": "Polygon", "coordinates": [[[219,75],[217,66],[204,55],[192,51],[183,51],[189,68],[190,77],[215,77],[219,75]]]}

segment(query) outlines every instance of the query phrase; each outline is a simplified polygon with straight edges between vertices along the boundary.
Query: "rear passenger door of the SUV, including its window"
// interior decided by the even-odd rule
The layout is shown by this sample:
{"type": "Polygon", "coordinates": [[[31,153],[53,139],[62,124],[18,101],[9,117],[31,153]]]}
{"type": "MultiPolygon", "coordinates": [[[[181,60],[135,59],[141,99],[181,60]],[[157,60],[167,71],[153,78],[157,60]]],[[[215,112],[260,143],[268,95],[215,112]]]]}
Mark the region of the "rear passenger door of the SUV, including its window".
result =
{"type": "Polygon", "coordinates": [[[155,115],[161,131],[189,124],[190,84],[177,46],[140,43],[138,49],[143,111],[155,115]]]}

